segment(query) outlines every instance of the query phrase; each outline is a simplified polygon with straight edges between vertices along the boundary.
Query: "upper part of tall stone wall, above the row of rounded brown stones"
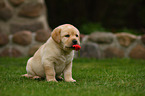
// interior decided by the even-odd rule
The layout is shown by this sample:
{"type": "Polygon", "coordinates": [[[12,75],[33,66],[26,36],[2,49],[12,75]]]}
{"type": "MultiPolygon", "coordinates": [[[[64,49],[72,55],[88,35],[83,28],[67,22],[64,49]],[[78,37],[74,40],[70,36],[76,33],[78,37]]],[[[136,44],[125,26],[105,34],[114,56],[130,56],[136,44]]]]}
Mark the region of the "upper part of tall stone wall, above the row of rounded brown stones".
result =
{"type": "Polygon", "coordinates": [[[48,30],[44,0],[0,0],[0,33],[48,30]]]}

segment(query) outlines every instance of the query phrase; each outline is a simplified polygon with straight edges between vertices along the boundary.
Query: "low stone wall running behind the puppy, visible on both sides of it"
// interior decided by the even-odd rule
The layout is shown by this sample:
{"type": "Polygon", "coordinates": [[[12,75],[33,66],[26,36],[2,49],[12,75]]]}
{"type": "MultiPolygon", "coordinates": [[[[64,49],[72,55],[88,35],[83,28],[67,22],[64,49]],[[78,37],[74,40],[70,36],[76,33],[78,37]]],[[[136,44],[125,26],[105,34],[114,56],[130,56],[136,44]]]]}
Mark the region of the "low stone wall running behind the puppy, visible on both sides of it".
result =
{"type": "MultiPolygon", "coordinates": [[[[0,56],[32,56],[47,41],[51,32],[21,31],[9,35],[0,35],[0,56]]],[[[80,58],[134,58],[145,59],[145,35],[135,36],[129,33],[95,32],[82,36],[81,50],[75,57],[80,58]],[[80,54],[80,55],[78,55],[80,54]]]]}

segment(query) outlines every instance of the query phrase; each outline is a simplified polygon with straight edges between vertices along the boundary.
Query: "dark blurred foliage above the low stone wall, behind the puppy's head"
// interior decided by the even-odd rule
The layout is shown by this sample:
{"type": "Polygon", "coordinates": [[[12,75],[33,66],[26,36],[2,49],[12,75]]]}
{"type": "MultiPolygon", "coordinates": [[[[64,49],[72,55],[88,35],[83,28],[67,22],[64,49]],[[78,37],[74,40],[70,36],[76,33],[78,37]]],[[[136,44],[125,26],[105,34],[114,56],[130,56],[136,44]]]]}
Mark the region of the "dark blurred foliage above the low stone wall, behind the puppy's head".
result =
{"type": "Polygon", "coordinates": [[[93,31],[145,34],[145,0],[45,0],[53,29],[70,23],[81,33],[93,31]]]}

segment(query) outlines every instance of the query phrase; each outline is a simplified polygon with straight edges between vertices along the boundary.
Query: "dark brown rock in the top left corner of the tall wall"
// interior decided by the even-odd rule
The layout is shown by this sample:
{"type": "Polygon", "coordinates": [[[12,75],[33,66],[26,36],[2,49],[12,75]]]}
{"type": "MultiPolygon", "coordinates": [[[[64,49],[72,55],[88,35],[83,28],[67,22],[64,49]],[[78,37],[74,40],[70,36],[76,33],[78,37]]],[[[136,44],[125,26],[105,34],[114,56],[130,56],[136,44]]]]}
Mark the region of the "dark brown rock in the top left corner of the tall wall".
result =
{"type": "Polygon", "coordinates": [[[12,8],[4,0],[0,0],[0,20],[9,20],[13,15],[12,12],[12,8]]]}

